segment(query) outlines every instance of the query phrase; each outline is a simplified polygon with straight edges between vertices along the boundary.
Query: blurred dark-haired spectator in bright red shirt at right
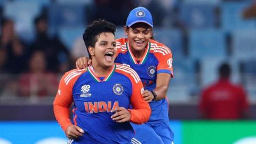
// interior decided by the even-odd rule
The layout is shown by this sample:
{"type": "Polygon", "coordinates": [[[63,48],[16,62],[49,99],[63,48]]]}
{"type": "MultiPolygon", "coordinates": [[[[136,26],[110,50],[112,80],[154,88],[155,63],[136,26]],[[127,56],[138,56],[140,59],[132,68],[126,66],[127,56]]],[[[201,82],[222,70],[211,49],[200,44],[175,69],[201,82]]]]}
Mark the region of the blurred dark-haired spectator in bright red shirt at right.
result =
{"type": "Polygon", "coordinates": [[[223,63],[219,68],[219,81],[202,92],[199,109],[207,119],[239,119],[247,113],[246,92],[242,86],[229,81],[230,66],[223,63]]]}

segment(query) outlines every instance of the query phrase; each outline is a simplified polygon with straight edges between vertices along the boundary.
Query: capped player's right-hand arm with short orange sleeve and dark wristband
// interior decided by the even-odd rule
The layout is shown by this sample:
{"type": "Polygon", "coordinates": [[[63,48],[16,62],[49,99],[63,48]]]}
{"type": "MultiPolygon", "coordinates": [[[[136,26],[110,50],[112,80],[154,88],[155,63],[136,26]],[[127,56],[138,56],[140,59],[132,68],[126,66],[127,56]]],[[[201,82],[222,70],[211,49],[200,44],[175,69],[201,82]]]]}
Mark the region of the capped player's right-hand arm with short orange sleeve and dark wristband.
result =
{"type": "MultiPolygon", "coordinates": [[[[169,48],[166,47],[169,50],[169,48]]],[[[143,98],[147,102],[152,100],[162,100],[166,97],[166,93],[173,77],[172,68],[172,53],[166,51],[167,54],[157,53],[156,58],[158,59],[157,65],[157,76],[156,76],[156,88],[153,91],[145,90],[143,92],[143,98]]]]}

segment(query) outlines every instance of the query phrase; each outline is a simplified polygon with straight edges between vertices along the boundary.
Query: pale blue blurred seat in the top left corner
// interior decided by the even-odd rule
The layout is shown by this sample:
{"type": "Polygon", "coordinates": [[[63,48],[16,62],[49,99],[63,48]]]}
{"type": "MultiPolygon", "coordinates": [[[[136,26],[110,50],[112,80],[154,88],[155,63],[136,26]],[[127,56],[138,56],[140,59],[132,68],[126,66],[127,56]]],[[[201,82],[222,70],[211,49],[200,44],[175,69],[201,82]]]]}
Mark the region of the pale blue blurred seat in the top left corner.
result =
{"type": "Polygon", "coordinates": [[[4,16],[15,22],[15,29],[25,41],[31,41],[34,33],[34,19],[40,14],[42,5],[34,2],[13,1],[4,3],[4,16]],[[29,7],[29,9],[28,9],[29,7]]]}

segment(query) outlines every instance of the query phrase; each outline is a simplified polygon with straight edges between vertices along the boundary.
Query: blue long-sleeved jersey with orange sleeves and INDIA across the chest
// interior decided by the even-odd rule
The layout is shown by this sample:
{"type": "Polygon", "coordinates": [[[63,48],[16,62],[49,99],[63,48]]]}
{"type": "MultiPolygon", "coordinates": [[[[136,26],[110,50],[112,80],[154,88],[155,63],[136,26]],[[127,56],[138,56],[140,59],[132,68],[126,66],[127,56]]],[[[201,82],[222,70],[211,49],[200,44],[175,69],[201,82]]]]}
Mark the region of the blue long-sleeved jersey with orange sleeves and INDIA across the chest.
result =
{"type": "Polygon", "coordinates": [[[60,80],[53,102],[54,115],[65,131],[78,125],[85,133],[75,143],[129,143],[134,131],[129,122],[117,123],[111,119],[111,110],[124,107],[131,112],[130,122],[142,124],[151,114],[148,103],[142,98],[143,85],[131,68],[115,63],[109,74],[97,76],[92,66],[71,70],[60,80]],[[74,102],[72,123],[69,107],[74,102]],[[130,105],[133,109],[129,109],[130,105]],[[89,142],[90,143],[90,142],[89,142]]]}

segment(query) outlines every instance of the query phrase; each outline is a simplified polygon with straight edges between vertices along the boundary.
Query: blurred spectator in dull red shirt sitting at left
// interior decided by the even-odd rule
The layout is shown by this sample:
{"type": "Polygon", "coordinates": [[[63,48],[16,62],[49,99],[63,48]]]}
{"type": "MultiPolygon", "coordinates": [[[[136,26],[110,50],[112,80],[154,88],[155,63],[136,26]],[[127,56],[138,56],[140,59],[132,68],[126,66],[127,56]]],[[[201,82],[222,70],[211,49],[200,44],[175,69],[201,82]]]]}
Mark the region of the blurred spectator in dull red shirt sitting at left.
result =
{"type": "Polygon", "coordinates": [[[34,51],[29,60],[29,71],[21,74],[19,95],[22,97],[52,96],[58,88],[57,75],[46,70],[46,58],[43,51],[34,51]]]}

